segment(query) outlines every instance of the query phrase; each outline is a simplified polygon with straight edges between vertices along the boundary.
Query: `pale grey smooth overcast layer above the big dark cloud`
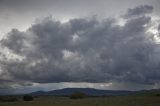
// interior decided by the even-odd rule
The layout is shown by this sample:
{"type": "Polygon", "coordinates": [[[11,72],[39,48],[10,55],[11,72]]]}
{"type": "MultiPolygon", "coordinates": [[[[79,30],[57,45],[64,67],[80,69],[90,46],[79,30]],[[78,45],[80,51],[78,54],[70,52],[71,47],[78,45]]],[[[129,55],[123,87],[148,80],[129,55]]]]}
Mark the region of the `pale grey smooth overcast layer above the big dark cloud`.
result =
{"type": "Polygon", "coordinates": [[[128,8],[146,4],[155,8],[154,16],[160,15],[159,0],[0,0],[0,33],[12,28],[24,31],[36,18],[48,15],[61,22],[90,15],[102,19],[122,15],[128,8]]]}

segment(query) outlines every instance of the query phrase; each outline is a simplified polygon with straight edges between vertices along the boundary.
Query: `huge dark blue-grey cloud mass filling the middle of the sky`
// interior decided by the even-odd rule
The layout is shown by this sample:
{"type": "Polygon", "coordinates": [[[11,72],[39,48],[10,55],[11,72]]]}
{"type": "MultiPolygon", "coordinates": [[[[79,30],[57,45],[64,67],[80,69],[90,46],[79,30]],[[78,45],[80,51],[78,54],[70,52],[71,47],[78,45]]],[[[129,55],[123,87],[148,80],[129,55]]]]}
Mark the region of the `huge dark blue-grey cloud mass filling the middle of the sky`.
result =
{"type": "Polygon", "coordinates": [[[158,83],[160,48],[147,33],[152,20],[143,9],[150,6],[140,7],[127,14],[134,15],[136,10],[142,15],[126,19],[124,26],[112,18],[77,18],[61,23],[46,17],[26,31],[13,29],[0,41],[12,55],[9,58],[2,53],[1,81],[20,85],[21,81],[158,83]]]}

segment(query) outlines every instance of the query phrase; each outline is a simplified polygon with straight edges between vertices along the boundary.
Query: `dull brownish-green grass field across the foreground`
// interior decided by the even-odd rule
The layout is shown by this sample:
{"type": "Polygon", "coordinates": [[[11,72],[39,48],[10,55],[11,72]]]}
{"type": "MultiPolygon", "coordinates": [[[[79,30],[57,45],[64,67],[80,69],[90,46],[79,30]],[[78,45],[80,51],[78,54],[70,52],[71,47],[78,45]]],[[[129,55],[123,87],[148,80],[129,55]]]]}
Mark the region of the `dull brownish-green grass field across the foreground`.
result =
{"type": "Polygon", "coordinates": [[[62,97],[38,97],[34,101],[2,102],[0,106],[160,106],[158,96],[113,96],[73,100],[62,97]]]}

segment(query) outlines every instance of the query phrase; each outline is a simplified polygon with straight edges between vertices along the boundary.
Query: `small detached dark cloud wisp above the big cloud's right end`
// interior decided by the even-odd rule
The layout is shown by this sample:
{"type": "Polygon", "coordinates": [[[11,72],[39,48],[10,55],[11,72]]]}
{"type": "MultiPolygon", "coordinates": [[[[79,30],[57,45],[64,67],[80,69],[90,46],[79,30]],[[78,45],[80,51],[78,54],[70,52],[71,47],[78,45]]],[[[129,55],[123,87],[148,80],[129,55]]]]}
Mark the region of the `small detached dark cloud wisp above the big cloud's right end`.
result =
{"type": "Polygon", "coordinates": [[[144,14],[152,13],[152,12],[153,12],[153,6],[142,5],[134,9],[128,9],[128,12],[126,15],[124,15],[124,17],[130,18],[130,17],[142,16],[144,14]]]}

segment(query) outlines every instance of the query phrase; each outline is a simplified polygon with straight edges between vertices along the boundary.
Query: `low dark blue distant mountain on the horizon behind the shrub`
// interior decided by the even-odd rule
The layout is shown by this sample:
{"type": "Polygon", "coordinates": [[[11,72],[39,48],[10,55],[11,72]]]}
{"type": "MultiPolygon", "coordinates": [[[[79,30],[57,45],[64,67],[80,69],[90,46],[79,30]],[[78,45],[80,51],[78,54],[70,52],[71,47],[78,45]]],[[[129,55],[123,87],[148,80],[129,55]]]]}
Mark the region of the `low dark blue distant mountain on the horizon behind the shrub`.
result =
{"type": "Polygon", "coordinates": [[[109,96],[109,95],[128,95],[134,93],[133,91],[115,91],[115,90],[100,90],[94,88],[64,88],[53,91],[37,91],[30,95],[54,95],[54,96],[68,96],[74,92],[83,92],[89,96],[109,96]]]}

